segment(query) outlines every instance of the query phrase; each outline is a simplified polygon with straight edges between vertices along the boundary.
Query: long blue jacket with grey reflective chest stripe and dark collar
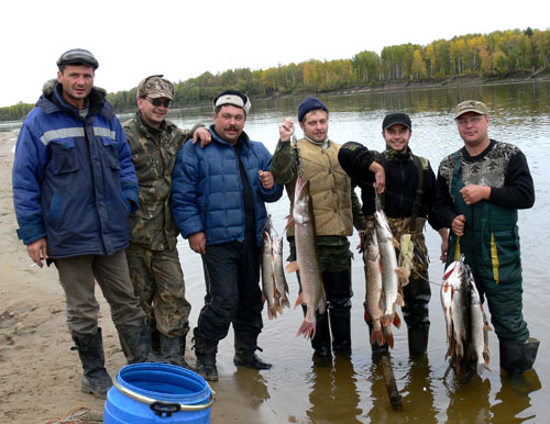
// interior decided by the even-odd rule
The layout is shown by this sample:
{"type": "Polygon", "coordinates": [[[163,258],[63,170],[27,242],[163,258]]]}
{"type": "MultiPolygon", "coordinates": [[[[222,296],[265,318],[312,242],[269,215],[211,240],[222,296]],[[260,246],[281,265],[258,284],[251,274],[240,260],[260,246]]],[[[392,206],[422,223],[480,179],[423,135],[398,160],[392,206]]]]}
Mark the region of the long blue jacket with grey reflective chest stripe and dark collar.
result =
{"type": "Polygon", "coordinates": [[[105,92],[92,88],[88,115],[50,81],[21,127],[13,163],[19,238],[46,237],[51,258],[113,254],[128,246],[138,179],[124,131],[105,92]]]}

